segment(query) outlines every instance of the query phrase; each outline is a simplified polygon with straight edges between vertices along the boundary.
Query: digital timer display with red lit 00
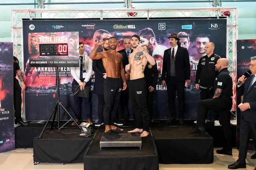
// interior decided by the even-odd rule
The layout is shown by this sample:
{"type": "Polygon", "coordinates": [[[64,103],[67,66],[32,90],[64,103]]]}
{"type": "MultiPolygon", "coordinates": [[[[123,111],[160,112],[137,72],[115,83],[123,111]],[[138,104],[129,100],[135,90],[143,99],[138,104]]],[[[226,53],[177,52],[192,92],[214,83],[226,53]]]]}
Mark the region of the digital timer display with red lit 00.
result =
{"type": "Polygon", "coordinates": [[[39,44],[40,56],[67,56],[68,43],[39,44]]]}

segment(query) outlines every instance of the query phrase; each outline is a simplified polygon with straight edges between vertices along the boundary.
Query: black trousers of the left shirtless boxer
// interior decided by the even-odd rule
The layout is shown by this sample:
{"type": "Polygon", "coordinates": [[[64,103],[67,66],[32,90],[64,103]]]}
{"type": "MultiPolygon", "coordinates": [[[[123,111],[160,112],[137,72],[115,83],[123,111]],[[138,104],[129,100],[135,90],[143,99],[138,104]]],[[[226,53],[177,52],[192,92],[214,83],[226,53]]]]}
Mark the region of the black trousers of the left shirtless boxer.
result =
{"type": "Polygon", "coordinates": [[[104,122],[105,125],[114,125],[116,111],[122,91],[122,80],[120,78],[107,77],[104,80],[104,122]]]}

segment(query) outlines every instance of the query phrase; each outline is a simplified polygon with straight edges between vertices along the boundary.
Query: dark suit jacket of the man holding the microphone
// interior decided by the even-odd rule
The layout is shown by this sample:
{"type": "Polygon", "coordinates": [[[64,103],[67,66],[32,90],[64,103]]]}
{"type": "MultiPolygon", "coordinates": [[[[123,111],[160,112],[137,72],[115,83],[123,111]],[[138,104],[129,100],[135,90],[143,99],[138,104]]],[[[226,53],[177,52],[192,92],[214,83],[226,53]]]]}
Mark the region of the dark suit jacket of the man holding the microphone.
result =
{"type": "Polygon", "coordinates": [[[244,96],[243,103],[248,102],[250,104],[250,109],[241,111],[241,117],[243,117],[246,121],[256,122],[256,82],[254,82],[254,84],[250,86],[250,82],[252,78],[253,78],[252,76],[248,77],[248,79],[240,87],[243,90],[242,91],[242,94],[244,96]]]}

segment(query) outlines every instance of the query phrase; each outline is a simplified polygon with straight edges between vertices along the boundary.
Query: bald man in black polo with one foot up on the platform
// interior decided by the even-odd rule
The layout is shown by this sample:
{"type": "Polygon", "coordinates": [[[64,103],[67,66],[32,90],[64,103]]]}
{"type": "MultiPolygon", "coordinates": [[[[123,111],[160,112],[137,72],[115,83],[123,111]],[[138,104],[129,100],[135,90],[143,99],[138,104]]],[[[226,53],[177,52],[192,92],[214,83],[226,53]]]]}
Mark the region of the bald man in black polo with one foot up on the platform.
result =
{"type": "Polygon", "coordinates": [[[230,131],[230,109],[232,107],[232,78],[228,71],[228,60],[218,59],[215,65],[219,74],[214,83],[214,96],[212,99],[205,99],[198,102],[197,128],[190,131],[190,134],[205,134],[205,119],[208,109],[216,111],[222,122],[226,144],[223,149],[216,150],[218,154],[232,155],[232,142],[230,131]]]}

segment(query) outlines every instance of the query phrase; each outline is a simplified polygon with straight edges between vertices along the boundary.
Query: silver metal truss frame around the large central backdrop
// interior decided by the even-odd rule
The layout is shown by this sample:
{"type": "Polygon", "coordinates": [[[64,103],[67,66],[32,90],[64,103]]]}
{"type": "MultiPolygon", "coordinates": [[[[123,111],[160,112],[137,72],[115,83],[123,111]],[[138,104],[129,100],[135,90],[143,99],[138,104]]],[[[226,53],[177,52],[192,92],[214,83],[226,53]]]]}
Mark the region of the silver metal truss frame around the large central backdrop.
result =
{"type": "MultiPolygon", "coordinates": [[[[229,61],[228,69],[233,79],[233,107],[236,111],[236,39],[238,37],[238,13],[236,7],[230,8],[158,8],[158,9],[90,9],[90,10],[12,10],[11,29],[14,56],[23,63],[23,39],[22,39],[22,18],[34,19],[54,19],[54,18],[185,18],[185,17],[221,17],[225,12],[230,12],[227,18],[227,59],[229,61]],[[129,12],[136,15],[130,16],[129,12]]],[[[22,65],[23,67],[23,65],[22,65]]],[[[24,68],[23,68],[24,69],[24,68]]]]}

